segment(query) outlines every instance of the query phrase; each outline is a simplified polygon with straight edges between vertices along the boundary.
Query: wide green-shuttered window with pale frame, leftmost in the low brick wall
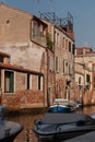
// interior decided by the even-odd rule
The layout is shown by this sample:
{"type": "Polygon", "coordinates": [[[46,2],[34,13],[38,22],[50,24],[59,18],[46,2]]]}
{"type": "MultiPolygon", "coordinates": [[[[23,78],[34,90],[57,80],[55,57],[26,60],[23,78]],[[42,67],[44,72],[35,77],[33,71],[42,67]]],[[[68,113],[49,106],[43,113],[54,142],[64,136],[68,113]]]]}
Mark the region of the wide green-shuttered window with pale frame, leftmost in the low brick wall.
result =
{"type": "Polygon", "coordinates": [[[14,92],[14,72],[12,71],[4,71],[4,92],[14,92]]]}

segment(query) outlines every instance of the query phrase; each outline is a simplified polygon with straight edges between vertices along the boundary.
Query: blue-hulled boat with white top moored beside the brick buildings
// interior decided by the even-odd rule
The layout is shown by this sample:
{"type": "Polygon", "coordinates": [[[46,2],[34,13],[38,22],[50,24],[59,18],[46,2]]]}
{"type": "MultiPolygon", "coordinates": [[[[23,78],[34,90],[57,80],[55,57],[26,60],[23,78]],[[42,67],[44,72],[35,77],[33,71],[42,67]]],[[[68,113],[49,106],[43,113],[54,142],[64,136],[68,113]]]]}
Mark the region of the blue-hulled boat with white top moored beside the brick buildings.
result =
{"type": "Polygon", "coordinates": [[[49,113],[72,113],[78,109],[73,100],[56,98],[54,104],[49,107],[49,113]]]}

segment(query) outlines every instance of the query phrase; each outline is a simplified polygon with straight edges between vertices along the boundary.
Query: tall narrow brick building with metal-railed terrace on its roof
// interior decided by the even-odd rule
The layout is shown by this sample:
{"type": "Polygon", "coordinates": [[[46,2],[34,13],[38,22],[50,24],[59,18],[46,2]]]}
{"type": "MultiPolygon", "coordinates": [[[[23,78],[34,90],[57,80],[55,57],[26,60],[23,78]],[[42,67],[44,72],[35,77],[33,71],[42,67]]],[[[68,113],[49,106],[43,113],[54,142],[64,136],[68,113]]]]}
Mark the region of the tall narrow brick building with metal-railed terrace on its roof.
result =
{"type": "Polygon", "coordinates": [[[73,17],[68,13],[63,21],[54,12],[41,13],[41,17],[48,24],[54,42],[55,97],[71,99],[74,95],[73,17]]]}

